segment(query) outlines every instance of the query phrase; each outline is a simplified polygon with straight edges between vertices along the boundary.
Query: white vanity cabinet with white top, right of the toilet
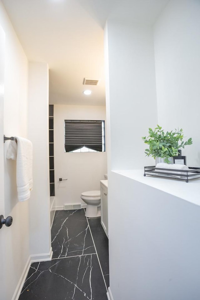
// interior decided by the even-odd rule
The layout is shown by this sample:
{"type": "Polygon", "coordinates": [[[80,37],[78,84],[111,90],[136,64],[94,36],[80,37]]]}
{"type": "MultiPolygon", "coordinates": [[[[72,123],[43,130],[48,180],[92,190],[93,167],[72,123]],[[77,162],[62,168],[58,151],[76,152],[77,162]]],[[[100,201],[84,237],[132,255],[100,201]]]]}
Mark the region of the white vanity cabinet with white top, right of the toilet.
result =
{"type": "Polygon", "coordinates": [[[108,237],[108,180],[100,181],[101,189],[101,224],[108,237]]]}

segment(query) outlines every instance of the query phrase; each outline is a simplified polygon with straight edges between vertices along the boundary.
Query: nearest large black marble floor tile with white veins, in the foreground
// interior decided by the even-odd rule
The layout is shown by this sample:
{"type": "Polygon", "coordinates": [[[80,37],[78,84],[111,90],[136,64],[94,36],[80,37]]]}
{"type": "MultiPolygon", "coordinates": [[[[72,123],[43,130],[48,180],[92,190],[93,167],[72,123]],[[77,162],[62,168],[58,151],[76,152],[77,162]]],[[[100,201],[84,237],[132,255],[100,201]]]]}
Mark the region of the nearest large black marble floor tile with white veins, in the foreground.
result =
{"type": "Polygon", "coordinates": [[[32,263],[19,300],[107,300],[96,254],[32,263]]]}

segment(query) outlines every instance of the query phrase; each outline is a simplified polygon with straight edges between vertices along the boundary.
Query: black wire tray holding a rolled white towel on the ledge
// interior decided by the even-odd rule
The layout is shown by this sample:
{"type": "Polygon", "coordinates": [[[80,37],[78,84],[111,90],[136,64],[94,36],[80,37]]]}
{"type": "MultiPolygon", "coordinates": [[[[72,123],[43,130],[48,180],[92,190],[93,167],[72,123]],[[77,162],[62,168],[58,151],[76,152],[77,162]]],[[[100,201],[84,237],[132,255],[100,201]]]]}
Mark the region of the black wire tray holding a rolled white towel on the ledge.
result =
{"type": "Polygon", "coordinates": [[[144,167],[144,176],[155,175],[155,176],[178,178],[178,179],[185,180],[185,182],[188,182],[190,179],[200,178],[200,168],[192,168],[192,167],[188,167],[188,168],[189,170],[180,170],[180,169],[156,168],[156,166],[149,166],[149,167],[144,167]]]}

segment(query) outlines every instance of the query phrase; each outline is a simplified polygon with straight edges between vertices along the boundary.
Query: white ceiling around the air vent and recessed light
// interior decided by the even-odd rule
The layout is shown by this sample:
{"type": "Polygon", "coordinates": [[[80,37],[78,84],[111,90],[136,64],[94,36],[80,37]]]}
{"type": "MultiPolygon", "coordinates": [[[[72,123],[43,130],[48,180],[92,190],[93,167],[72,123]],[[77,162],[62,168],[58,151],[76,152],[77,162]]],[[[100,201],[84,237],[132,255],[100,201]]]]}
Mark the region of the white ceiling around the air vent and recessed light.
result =
{"type": "Polygon", "coordinates": [[[1,0],[29,61],[49,66],[49,103],[105,105],[107,18],[153,24],[169,0],[1,0]],[[83,78],[98,79],[97,86],[83,78]],[[92,94],[83,94],[85,89],[92,94]]]}

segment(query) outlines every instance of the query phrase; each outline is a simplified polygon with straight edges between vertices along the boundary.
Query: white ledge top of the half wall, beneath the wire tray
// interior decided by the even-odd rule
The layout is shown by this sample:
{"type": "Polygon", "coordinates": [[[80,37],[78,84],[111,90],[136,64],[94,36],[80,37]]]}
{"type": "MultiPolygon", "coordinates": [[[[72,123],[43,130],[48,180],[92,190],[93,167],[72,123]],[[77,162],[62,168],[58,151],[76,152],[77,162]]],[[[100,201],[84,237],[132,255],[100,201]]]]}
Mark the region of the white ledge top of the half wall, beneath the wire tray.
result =
{"type": "Polygon", "coordinates": [[[146,175],[144,177],[144,170],[122,170],[112,172],[147,184],[163,192],[169,193],[200,206],[200,178],[191,179],[188,183],[186,183],[185,180],[178,178],[176,179],[150,175],[146,175]]]}

